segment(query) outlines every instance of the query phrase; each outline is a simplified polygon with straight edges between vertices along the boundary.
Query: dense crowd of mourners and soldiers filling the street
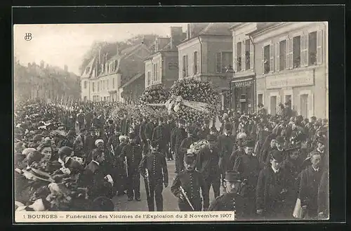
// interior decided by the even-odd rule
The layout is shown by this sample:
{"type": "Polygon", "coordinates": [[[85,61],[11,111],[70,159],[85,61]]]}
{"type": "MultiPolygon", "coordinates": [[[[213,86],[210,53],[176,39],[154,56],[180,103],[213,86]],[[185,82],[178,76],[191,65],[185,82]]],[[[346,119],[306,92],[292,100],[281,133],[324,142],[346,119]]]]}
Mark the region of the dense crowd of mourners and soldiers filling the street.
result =
{"type": "Polygon", "coordinates": [[[112,119],[116,103],[15,107],[16,211],[114,211],[113,197],[163,211],[167,161],[176,161],[171,192],[180,211],[230,211],[238,219],[329,217],[328,121],[223,113],[188,124],[173,117],[112,119]],[[193,145],[206,145],[195,150],[193,145]],[[215,199],[210,202],[213,189],[215,199]],[[220,187],[225,193],[220,195],[220,187]],[[155,203],[154,203],[155,202],[155,203]]]}

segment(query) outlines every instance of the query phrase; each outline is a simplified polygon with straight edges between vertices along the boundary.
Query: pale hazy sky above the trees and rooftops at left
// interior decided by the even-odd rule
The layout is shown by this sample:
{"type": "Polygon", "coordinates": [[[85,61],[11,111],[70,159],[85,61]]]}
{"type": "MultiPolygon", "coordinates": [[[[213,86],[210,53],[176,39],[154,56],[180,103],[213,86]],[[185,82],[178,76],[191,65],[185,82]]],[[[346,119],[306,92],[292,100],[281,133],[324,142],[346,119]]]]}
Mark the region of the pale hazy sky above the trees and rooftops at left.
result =
{"type": "Polygon", "coordinates": [[[187,23],[119,23],[119,24],[41,24],[13,26],[13,54],[20,64],[28,62],[63,67],[79,75],[79,65],[93,41],[124,41],[137,34],[170,36],[172,26],[187,23]],[[25,34],[32,40],[26,41],[25,34]]]}

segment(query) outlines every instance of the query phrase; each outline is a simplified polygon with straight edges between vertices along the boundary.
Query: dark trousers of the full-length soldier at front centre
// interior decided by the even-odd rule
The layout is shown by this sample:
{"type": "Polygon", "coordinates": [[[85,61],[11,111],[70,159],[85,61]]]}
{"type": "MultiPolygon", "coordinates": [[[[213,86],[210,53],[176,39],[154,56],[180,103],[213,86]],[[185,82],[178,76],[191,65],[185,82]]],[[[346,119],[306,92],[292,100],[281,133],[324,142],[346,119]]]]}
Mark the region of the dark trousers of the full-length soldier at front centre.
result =
{"type": "Polygon", "coordinates": [[[148,185],[146,178],[144,178],[144,182],[149,211],[154,211],[154,202],[156,202],[157,211],[164,211],[164,198],[162,197],[162,190],[164,190],[163,180],[161,178],[150,178],[150,185],[148,185]]]}

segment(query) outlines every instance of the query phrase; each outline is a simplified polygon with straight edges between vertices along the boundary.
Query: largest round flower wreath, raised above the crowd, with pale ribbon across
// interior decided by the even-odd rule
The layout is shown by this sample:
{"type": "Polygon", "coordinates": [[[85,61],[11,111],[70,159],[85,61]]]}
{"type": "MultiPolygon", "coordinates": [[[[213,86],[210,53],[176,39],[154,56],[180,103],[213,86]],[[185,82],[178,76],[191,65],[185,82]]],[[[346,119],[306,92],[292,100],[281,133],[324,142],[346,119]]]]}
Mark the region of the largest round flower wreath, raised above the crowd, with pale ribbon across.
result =
{"type": "Polygon", "coordinates": [[[205,119],[212,119],[219,108],[219,93],[209,81],[199,81],[194,78],[180,79],[171,87],[171,97],[181,96],[183,100],[206,103],[208,112],[202,112],[183,103],[174,106],[177,119],[184,119],[190,124],[202,124],[205,119]]]}

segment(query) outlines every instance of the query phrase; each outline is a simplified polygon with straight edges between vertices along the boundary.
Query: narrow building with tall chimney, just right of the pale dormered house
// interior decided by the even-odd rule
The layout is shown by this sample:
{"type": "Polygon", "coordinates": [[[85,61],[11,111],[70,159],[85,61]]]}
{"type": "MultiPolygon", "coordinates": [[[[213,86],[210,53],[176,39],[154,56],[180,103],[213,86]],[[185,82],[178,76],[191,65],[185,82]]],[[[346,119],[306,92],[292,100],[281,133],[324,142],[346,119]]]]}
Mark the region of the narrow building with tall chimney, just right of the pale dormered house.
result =
{"type": "Polygon", "coordinates": [[[171,37],[157,37],[153,53],[145,60],[145,88],[162,84],[170,88],[178,79],[178,49],[184,39],[182,27],[171,27],[171,37]]]}

